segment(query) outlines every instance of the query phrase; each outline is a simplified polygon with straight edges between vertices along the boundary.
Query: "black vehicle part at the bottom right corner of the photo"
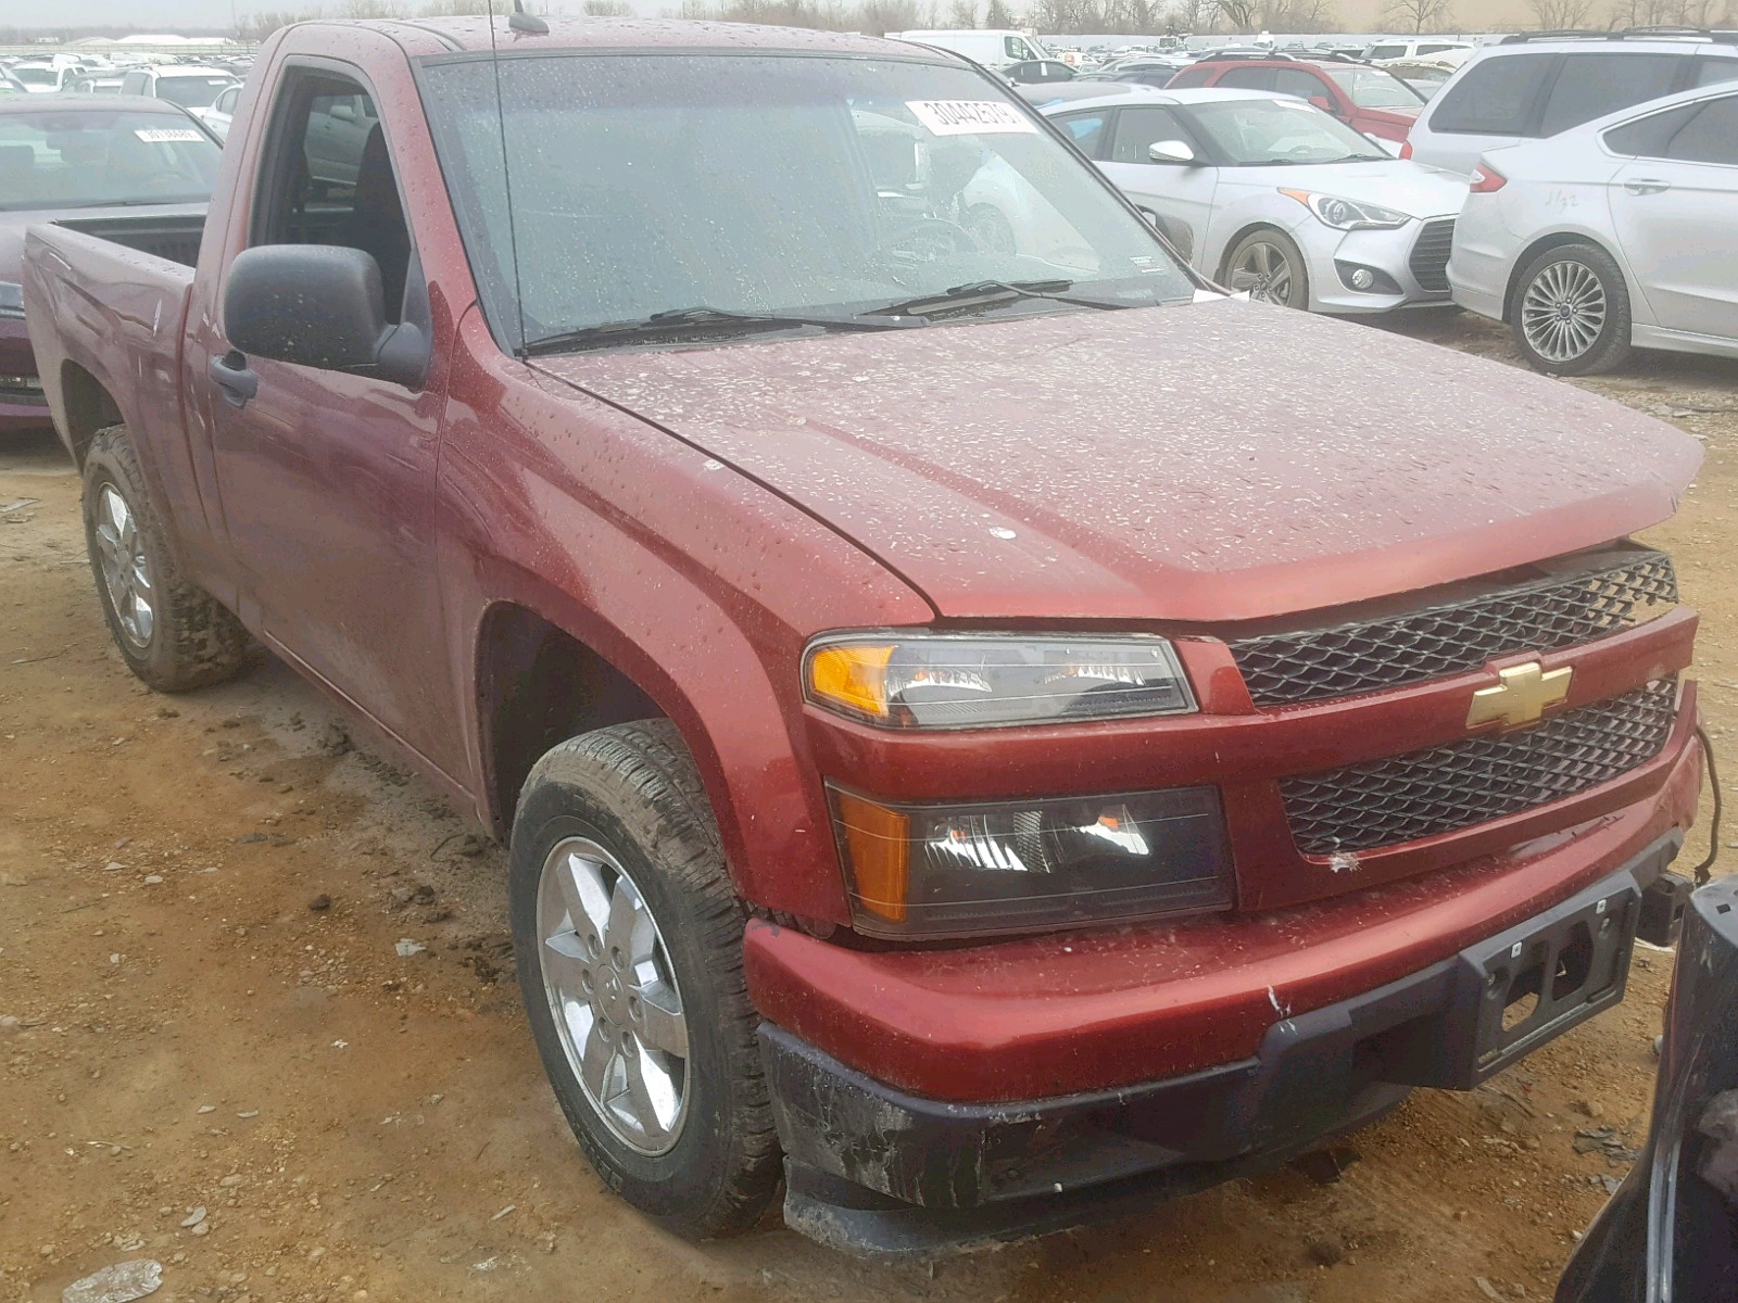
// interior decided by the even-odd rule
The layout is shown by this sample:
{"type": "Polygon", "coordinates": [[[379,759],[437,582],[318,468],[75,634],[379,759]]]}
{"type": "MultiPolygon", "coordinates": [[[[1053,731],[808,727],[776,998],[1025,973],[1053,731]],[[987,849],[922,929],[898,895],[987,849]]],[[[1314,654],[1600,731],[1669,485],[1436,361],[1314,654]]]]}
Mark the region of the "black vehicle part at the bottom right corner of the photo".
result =
{"type": "Polygon", "coordinates": [[[1738,1300],[1738,877],[1684,912],[1648,1148],[1557,1286],[1557,1303],[1655,1300],[1738,1300]]]}

